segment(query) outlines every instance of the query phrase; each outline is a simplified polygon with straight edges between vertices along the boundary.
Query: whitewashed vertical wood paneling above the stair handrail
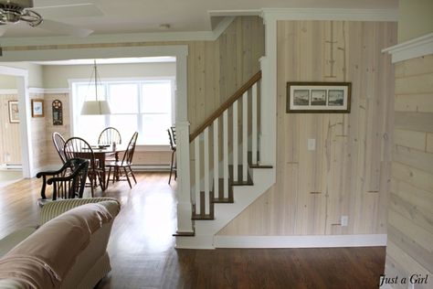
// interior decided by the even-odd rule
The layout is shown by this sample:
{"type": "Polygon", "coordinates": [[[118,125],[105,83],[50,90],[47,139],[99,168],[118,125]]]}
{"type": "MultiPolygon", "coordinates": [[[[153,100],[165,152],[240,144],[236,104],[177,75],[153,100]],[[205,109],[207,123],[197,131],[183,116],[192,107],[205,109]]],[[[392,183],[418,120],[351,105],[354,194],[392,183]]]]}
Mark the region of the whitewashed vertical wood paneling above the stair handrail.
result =
{"type": "Polygon", "coordinates": [[[190,131],[259,71],[264,27],[258,16],[237,17],[216,41],[188,44],[190,131]]]}

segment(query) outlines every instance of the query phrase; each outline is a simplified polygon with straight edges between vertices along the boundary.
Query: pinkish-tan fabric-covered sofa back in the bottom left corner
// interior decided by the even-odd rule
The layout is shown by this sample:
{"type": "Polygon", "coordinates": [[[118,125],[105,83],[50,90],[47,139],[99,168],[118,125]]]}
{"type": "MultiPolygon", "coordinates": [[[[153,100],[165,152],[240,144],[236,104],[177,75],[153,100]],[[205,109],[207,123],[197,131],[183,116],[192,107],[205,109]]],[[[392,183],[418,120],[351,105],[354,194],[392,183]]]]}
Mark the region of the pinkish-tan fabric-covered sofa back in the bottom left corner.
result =
{"type": "Polygon", "coordinates": [[[90,235],[112,218],[104,205],[92,203],[51,219],[0,259],[0,278],[30,288],[58,287],[90,235]]]}

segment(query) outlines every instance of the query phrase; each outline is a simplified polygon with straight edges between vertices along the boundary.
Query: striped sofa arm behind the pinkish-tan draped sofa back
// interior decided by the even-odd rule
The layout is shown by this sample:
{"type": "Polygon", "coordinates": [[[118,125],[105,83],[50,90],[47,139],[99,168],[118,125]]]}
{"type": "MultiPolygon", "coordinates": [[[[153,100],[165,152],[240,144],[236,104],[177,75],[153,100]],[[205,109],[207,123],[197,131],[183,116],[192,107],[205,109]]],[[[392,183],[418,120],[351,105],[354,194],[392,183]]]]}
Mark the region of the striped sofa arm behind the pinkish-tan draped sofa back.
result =
{"type": "Polygon", "coordinates": [[[48,222],[48,220],[56,218],[58,215],[66,212],[69,209],[73,209],[84,204],[99,203],[106,200],[114,200],[119,202],[116,198],[69,198],[49,202],[44,205],[40,211],[39,224],[43,225],[48,222]]]}

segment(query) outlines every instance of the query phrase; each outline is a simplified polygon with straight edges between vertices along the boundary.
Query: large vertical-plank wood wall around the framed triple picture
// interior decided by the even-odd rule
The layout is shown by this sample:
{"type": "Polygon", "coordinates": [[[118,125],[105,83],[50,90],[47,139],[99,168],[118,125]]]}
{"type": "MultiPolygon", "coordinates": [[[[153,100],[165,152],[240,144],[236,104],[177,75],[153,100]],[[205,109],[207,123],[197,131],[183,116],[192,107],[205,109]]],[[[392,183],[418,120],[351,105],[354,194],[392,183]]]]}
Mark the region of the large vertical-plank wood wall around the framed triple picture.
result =
{"type": "Polygon", "coordinates": [[[394,44],[396,23],[278,23],[277,182],[219,234],[385,233],[394,44]],[[352,112],[286,113],[287,81],[350,81],[352,112]]]}

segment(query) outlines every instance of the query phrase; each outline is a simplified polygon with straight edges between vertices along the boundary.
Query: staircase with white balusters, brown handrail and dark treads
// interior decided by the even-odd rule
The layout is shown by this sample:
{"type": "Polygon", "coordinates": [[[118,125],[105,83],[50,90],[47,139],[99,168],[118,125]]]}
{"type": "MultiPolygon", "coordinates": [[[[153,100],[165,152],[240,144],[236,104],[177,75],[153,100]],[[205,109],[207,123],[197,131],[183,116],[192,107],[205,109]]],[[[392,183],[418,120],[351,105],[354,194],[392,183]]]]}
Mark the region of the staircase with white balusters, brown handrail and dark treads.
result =
{"type": "Polygon", "coordinates": [[[177,248],[216,248],[216,233],[273,183],[259,159],[260,80],[261,71],[189,136],[194,231],[176,234],[177,248]]]}

